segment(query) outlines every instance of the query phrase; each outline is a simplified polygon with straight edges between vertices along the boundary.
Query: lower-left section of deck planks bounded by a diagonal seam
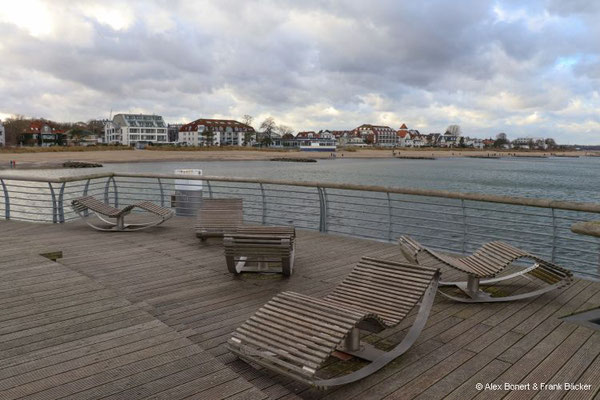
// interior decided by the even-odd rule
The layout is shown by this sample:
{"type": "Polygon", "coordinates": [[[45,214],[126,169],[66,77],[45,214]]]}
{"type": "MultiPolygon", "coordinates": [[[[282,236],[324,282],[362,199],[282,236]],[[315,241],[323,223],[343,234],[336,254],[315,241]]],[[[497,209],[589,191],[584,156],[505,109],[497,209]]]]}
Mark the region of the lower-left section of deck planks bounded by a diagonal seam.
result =
{"type": "MultiPolygon", "coordinates": [[[[134,383],[155,395],[178,386],[173,377],[182,374],[185,381],[205,377],[218,384],[219,371],[227,371],[234,384],[222,385],[223,395],[213,398],[245,392],[266,398],[223,363],[103,283],[61,264],[31,254],[26,257],[33,258],[2,277],[3,285],[10,287],[2,292],[5,301],[0,311],[2,399],[100,398],[130,391],[134,383]],[[71,277],[77,279],[63,279],[71,277]]],[[[0,262],[0,271],[2,266],[0,262]]],[[[131,398],[130,394],[122,398],[131,398]]]]}

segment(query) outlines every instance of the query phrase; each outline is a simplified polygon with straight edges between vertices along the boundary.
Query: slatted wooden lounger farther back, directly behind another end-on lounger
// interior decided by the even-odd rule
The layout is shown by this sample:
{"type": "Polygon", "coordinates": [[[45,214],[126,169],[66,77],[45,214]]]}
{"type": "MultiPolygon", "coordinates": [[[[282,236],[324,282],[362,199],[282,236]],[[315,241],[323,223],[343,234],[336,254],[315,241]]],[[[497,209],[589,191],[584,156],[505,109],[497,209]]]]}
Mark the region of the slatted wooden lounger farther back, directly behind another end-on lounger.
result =
{"type": "Polygon", "coordinates": [[[198,210],[196,236],[202,241],[235,232],[244,222],[242,199],[203,199],[198,210]]]}

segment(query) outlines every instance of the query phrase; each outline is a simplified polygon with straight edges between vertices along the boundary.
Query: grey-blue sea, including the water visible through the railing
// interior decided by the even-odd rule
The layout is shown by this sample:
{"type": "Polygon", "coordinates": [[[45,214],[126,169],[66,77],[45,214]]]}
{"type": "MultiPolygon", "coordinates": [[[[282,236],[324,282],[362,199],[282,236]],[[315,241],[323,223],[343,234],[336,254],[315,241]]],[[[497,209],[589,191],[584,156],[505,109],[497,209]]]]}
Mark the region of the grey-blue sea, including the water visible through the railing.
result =
{"type": "MultiPolygon", "coordinates": [[[[93,169],[15,170],[6,172],[15,175],[58,177],[103,171],[173,173],[177,168],[199,168],[203,170],[204,175],[209,176],[353,183],[550,198],[591,203],[600,202],[600,158],[596,157],[530,159],[450,158],[438,160],[359,160],[338,158],[335,160],[319,160],[317,163],[272,161],[153,162],[106,164],[103,168],[93,169]]],[[[39,185],[39,193],[34,190],[28,196],[19,195],[19,193],[15,194],[16,198],[11,202],[13,217],[31,217],[29,215],[30,210],[27,207],[31,204],[38,204],[32,202],[38,201],[47,204],[49,199],[48,187],[42,183],[39,185]],[[20,199],[18,198],[19,196],[21,197],[20,199]]],[[[216,187],[214,186],[213,190],[216,187]]],[[[95,188],[103,192],[104,183],[100,183],[100,186],[95,186],[95,188]]],[[[18,192],[24,189],[14,187],[13,190],[18,192]]],[[[65,195],[65,202],[68,204],[71,197],[80,195],[80,190],[82,190],[81,184],[74,192],[68,190],[67,192],[69,193],[65,195]]],[[[143,189],[140,190],[143,191],[143,189]]],[[[157,190],[155,187],[154,192],[152,194],[148,192],[147,195],[156,196],[158,193],[157,190]]],[[[167,189],[169,191],[167,195],[171,193],[170,190],[172,189],[167,189]]],[[[140,192],[134,190],[129,190],[132,193],[125,192],[127,190],[121,191],[120,197],[124,203],[127,203],[127,196],[140,194],[140,192]]],[[[315,198],[314,192],[310,192],[304,197],[302,194],[297,193],[295,196],[298,197],[297,200],[300,203],[305,201],[307,202],[306,204],[312,204],[312,206],[315,206],[315,202],[318,201],[315,198]]],[[[335,203],[335,191],[328,191],[328,196],[329,200],[335,203]]],[[[365,195],[358,192],[356,196],[369,196],[369,194],[365,195]]],[[[370,196],[373,195],[371,194],[370,196]]],[[[139,200],[139,198],[136,199],[139,200]]],[[[379,204],[377,202],[381,202],[382,200],[375,200],[372,197],[369,200],[365,200],[365,204],[361,204],[358,208],[353,205],[342,207],[338,204],[335,207],[332,206],[329,210],[330,215],[328,215],[328,231],[386,239],[386,237],[380,237],[387,232],[381,233],[381,226],[388,226],[391,221],[392,224],[389,225],[389,229],[393,228],[393,232],[388,233],[388,236],[391,233],[394,235],[398,233],[416,235],[426,245],[438,246],[457,252],[473,251],[477,246],[491,237],[502,238],[504,240],[518,239],[520,247],[524,246],[525,249],[535,254],[547,258],[552,257],[553,259],[556,257],[557,262],[584,274],[600,275],[600,271],[598,271],[600,240],[582,238],[570,232],[570,226],[574,221],[572,218],[595,219],[598,217],[596,214],[575,215],[575,213],[569,211],[557,211],[557,225],[552,228],[552,215],[554,214],[551,214],[548,210],[521,210],[518,207],[508,205],[495,205],[494,207],[479,205],[471,207],[467,211],[466,217],[469,222],[469,232],[465,236],[467,238],[466,242],[463,242],[463,231],[460,227],[462,226],[464,217],[461,217],[460,212],[456,214],[456,209],[446,209],[447,207],[452,207],[452,204],[456,207],[456,201],[436,199],[434,203],[440,203],[439,205],[432,204],[428,206],[424,203],[406,205],[401,202],[403,201],[402,199],[403,196],[392,196],[395,208],[391,219],[388,218],[388,214],[381,214],[381,209],[377,208],[377,204],[379,204]],[[448,203],[447,206],[444,206],[446,203],[448,203]],[[346,210],[345,207],[349,208],[346,210]],[[488,208],[493,210],[487,210],[488,208]],[[431,222],[432,212],[439,212],[435,214],[436,220],[434,224],[431,222]],[[522,215],[519,212],[525,212],[528,216],[521,219],[522,215]],[[370,215],[368,220],[365,220],[363,213],[370,215]],[[351,223],[346,223],[348,218],[350,218],[351,223]],[[352,222],[352,218],[358,219],[352,222]],[[486,224],[482,221],[489,221],[490,223],[486,224]],[[548,229],[554,229],[556,236],[549,234],[551,232],[548,232],[548,229]],[[464,244],[461,246],[461,243],[466,243],[466,247],[464,244]],[[556,249],[556,251],[553,249],[556,249]]],[[[159,200],[159,198],[152,197],[150,200],[161,201],[164,198],[159,200]]],[[[346,201],[347,199],[337,200],[346,201]]],[[[294,223],[298,227],[311,229],[318,227],[318,216],[313,215],[314,210],[311,210],[310,207],[305,210],[306,212],[298,212],[296,210],[296,214],[290,214],[287,205],[281,203],[282,201],[281,199],[271,201],[272,204],[268,202],[269,218],[274,218],[268,220],[268,223],[294,223]]],[[[287,199],[285,201],[292,201],[298,206],[298,201],[296,200],[287,199]]],[[[351,202],[352,199],[348,201],[351,202]]],[[[359,202],[359,200],[355,201],[359,202]]],[[[387,207],[388,203],[384,203],[383,205],[387,207]]],[[[253,210],[249,209],[247,211],[250,212],[253,210]]],[[[67,218],[75,217],[69,209],[65,210],[65,214],[67,218]]],[[[51,217],[51,215],[45,215],[43,218],[48,219],[51,217]]],[[[253,217],[258,218],[256,215],[253,217]]]]}

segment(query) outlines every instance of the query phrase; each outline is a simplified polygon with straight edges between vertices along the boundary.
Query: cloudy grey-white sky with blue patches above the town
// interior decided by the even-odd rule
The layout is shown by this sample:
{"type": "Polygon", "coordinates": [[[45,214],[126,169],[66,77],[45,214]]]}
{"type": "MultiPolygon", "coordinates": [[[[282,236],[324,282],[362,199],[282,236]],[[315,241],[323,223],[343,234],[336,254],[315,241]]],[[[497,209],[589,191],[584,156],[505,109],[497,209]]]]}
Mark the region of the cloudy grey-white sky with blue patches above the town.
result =
{"type": "Polygon", "coordinates": [[[600,2],[0,0],[0,119],[600,144],[600,2]]]}

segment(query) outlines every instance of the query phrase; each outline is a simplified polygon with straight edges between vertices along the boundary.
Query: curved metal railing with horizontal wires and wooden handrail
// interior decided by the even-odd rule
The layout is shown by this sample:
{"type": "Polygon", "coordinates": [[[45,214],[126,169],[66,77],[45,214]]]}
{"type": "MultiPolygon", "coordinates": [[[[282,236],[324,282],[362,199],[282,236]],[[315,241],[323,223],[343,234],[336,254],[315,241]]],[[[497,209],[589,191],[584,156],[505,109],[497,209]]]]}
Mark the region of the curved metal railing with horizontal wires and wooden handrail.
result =
{"type": "Polygon", "coordinates": [[[82,195],[96,196],[115,207],[140,200],[170,207],[176,196],[187,196],[186,185],[197,189],[198,180],[203,184],[202,196],[190,197],[191,202],[178,201],[178,212],[197,208],[202,197],[241,197],[249,222],[293,224],[387,242],[408,234],[427,246],[463,254],[485,242],[502,240],[580,276],[600,278],[600,239],[570,231],[573,223],[599,218],[600,204],[595,203],[229,177],[103,173],[45,179],[0,175],[0,218],[67,222],[76,218],[69,207],[71,200],[82,195]]]}

